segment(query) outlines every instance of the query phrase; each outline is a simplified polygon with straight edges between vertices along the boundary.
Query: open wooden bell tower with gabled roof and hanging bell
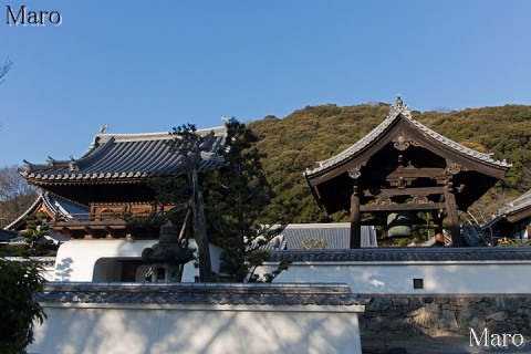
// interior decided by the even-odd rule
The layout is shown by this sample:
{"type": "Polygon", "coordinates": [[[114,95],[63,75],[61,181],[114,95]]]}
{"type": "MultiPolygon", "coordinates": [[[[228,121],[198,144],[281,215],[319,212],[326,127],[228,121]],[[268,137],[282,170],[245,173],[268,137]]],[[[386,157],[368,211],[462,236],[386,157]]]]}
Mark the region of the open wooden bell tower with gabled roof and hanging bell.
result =
{"type": "Polygon", "coordinates": [[[376,128],[304,175],[325,214],[350,211],[350,248],[361,247],[362,225],[404,237],[413,225],[441,237],[446,229],[460,247],[458,210],[466,211],[509,168],[420,124],[398,96],[376,128]]]}

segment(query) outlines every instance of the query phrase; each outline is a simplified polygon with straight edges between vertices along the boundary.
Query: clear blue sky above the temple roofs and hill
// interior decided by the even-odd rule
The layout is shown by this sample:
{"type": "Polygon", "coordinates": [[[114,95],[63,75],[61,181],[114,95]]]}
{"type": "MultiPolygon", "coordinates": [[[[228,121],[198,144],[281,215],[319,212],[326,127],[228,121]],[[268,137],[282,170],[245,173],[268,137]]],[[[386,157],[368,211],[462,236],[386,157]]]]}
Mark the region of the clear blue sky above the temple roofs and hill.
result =
{"type": "MultiPolygon", "coordinates": [[[[0,0],[0,166],[306,105],[531,104],[531,1],[0,0]],[[7,8],[60,27],[9,27],[7,8]]],[[[353,142],[354,143],[354,142],[353,142]]]]}

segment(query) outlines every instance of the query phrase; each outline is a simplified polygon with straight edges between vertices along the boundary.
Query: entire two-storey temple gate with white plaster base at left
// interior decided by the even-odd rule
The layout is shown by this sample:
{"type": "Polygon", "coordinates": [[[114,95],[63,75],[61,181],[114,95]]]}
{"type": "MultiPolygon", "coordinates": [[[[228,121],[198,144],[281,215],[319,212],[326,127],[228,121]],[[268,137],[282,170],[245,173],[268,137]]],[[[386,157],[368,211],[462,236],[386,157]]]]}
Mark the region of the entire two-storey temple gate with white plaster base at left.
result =
{"type": "MultiPolygon", "coordinates": [[[[199,176],[225,166],[217,154],[225,146],[225,126],[195,134],[201,142],[199,176]]],[[[81,158],[50,157],[40,165],[25,162],[21,175],[43,191],[10,228],[23,229],[27,216],[41,212],[52,232],[70,238],[58,251],[54,281],[144,281],[149,264],[143,261],[143,251],[159,241],[166,220],[157,217],[175,207],[155,202],[157,187],[153,183],[158,177],[175,179],[187,173],[181,168],[186,160],[176,149],[180,144],[176,139],[168,133],[107,134],[101,129],[81,158]]],[[[176,228],[189,232],[185,225],[189,218],[177,220],[180,225],[176,228]]],[[[194,240],[189,246],[196,246],[194,240]]],[[[218,269],[220,251],[211,246],[210,252],[218,269]]],[[[194,281],[197,270],[192,263],[187,267],[183,280],[194,281]]]]}

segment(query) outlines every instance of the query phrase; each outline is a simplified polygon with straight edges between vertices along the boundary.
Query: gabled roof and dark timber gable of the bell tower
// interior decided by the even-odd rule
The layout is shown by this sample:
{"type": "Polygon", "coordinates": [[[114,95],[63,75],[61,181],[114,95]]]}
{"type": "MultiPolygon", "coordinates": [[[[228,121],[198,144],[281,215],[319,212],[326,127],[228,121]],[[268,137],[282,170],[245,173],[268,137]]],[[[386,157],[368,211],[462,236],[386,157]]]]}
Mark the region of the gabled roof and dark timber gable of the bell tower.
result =
{"type": "Polygon", "coordinates": [[[441,201],[437,198],[449,186],[457,189],[457,207],[466,210],[509,167],[425,127],[407,106],[393,106],[373,132],[305,177],[326,214],[348,210],[354,185],[365,205],[400,204],[418,196],[423,198],[418,204],[431,202],[436,209],[441,201]]]}

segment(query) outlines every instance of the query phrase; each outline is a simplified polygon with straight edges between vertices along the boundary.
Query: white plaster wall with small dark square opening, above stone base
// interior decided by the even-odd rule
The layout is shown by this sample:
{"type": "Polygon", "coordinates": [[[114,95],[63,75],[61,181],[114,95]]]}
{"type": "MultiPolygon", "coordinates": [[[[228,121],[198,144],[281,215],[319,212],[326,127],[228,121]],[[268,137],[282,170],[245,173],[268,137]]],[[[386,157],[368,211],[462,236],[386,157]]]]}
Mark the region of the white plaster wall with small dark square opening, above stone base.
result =
{"type": "Polygon", "coordinates": [[[530,269],[530,261],[294,262],[273,282],[346,283],[362,294],[518,294],[531,293],[530,269]]]}

